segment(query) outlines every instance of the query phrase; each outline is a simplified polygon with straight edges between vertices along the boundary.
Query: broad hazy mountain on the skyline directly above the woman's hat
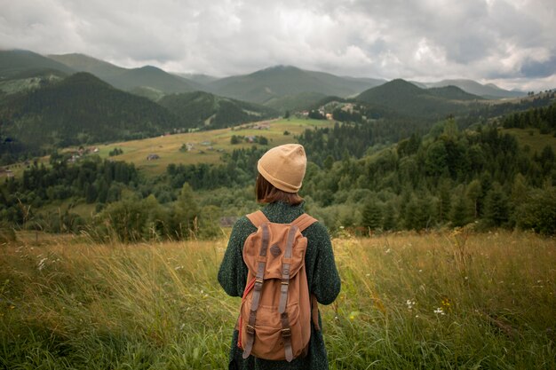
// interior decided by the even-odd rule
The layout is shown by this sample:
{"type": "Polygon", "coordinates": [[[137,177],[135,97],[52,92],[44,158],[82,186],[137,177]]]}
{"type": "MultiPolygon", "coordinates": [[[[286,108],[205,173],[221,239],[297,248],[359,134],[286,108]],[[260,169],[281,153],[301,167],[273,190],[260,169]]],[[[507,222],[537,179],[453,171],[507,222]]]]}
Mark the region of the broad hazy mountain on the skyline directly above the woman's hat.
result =
{"type": "Polygon", "coordinates": [[[250,75],[222,78],[210,87],[218,95],[265,104],[272,98],[316,92],[346,97],[382,83],[381,80],[343,78],[298,67],[270,67],[250,75]]]}

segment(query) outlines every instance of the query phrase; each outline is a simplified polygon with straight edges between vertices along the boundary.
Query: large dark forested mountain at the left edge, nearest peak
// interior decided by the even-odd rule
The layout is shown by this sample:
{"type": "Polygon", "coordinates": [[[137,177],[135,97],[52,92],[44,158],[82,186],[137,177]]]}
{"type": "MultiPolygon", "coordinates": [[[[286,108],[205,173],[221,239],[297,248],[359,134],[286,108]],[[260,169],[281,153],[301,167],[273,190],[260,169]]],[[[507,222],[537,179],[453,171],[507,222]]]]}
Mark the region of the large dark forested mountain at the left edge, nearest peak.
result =
{"type": "Polygon", "coordinates": [[[0,106],[2,153],[40,153],[52,146],[146,138],[176,127],[175,117],[147,98],[78,73],[0,106]]]}

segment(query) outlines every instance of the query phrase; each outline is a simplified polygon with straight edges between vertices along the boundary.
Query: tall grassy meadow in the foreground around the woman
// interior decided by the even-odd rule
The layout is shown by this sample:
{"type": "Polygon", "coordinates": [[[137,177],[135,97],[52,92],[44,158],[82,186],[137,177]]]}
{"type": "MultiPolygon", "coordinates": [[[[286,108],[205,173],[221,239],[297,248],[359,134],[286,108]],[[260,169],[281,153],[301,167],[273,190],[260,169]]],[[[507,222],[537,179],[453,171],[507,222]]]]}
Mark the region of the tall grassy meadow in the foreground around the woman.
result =
{"type": "MultiPolygon", "coordinates": [[[[226,368],[238,298],[213,241],[18,235],[0,253],[0,367],[226,368]]],[[[525,232],[333,240],[332,369],[556,368],[556,242],[525,232]]]]}

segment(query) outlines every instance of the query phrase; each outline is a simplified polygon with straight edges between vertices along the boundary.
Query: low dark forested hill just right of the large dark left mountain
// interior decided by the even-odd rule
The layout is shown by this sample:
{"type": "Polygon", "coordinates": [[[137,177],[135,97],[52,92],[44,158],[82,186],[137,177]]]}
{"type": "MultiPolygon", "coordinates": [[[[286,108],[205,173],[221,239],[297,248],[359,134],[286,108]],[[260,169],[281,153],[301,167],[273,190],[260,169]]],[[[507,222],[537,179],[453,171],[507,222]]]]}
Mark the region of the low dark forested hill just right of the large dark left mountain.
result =
{"type": "Polygon", "coordinates": [[[220,98],[203,91],[167,95],[158,103],[174,114],[182,127],[200,127],[205,130],[278,116],[272,108],[231,98],[220,98]]]}

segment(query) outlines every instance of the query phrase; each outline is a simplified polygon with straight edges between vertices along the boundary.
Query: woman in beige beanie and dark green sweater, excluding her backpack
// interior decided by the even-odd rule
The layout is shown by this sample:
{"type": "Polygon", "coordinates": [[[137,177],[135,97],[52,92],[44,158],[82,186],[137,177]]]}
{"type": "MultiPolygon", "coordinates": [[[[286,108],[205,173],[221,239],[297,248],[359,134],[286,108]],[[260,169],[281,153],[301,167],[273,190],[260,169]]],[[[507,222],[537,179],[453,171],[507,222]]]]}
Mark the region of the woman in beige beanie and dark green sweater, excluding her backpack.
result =
{"type": "MultiPolygon", "coordinates": [[[[270,222],[290,224],[305,213],[303,199],[298,195],[306,172],[306,154],[303,146],[287,144],[276,146],[264,154],[257,165],[258,177],[255,187],[257,201],[266,204],[262,209],[270,222]]],[[[235,224],[226,253],[218,272],[218,282],[228,295],[242,296],[248,269],[242,259],[245,240],[257,228],[243,216],[235,224]]],[[[319,303],[334,302],[340,291],[340,279],[334,262],[330,236],[320,223],[314,223],[302,232],[307,238],[305,256],[309,291],[319,303]]],[[[319,323],[321,322],[319,314],[319,323]]],[[[312,325],[311,339],[305,357],[291,362],[271,361],[249,356],[242,358],[237,346],[238,330],[234,330],[230,351],[230,369],[328,369],[328,359],[322,331],[312,325]]]]}

